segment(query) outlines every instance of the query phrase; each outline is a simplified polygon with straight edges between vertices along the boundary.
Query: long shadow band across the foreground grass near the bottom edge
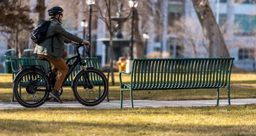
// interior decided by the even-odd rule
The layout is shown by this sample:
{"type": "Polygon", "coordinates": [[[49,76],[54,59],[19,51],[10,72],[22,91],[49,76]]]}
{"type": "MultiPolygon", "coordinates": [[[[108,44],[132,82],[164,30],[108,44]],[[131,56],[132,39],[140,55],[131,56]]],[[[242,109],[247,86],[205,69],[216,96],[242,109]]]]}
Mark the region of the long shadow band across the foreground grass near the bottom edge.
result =
{"type": "MultiPolygon", "coordinates": [[[[85,120],[86,121],[86,120],[85,120]]],[[[0,130],[8,133],[59,133],[62,130],[68,130],[67,133],[74,133],[80,129],[89,130],[89,133],[97,133],[104,128],[100,133],[102,135],[109,134],[110,132],[118,135],[118,132],[127,134],[140,134],[141,130],[144,133],[180,133],[183,134],[211,134],[218,133],[221,135],[239,136],[240,135],[253,135],[256,134],[256,127],[254,125],[195,125],[195,124],[180,124],[180,123],[143,123],[142,121],[136,123],[130,122],[94,122],[93,120],[87,122],[58,122],[58,121],[30,121],[30,120],[15,120],[15,119],[0,119],[0,130]],[[49,128],[52,128],[49,131],[49,128]],[[115,130],[113,132],[113,130],[115,130]],[[93,132],[91,132],[93,131],[93,132]],[[108,132],[110,131],[110,132],[108,132]],[[104,134],[105,133],[105,134],[104,134]]],[[[63,132],[62,132],[63,133],[63,132]]],[[[111,134],[113,135],[113,134],[111,134]]]]}

